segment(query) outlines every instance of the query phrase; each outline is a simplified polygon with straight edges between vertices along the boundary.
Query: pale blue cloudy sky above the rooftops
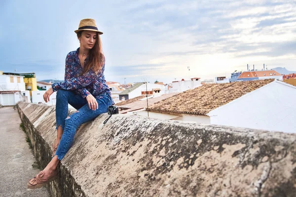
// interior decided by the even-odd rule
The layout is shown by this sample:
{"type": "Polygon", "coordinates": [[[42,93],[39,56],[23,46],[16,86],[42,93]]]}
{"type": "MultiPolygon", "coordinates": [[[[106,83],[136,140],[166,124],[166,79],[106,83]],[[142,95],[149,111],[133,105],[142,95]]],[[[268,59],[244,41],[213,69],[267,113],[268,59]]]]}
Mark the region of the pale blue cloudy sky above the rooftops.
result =
{"type": "Polygon", "coordinates": [[[0,0],[0,70],[63,79],[83,18],[104,33],[107,81],[296,70],[295,10],[296,0],[0,0]]]}

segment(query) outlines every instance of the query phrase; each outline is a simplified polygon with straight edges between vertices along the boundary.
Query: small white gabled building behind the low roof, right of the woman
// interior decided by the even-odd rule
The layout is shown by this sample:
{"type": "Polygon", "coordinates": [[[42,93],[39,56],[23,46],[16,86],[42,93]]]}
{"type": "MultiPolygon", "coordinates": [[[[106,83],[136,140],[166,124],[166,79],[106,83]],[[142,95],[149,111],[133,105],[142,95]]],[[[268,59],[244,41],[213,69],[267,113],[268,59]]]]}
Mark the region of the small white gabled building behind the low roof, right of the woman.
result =
{"type": "Polygon", "coordinates": [[[148,94],[149,96],[153,94],[157,94],[158,96],[161,96],[164,93],[165,93],[164,85],[147,83],[147,86],[146,86],[146,83],[143,83],[143,82],[135,83],[131,87],[125,89],[119,94],[119,100],[133,99],[135,97],[139,97],[141,95],[146,95],[146,94],[148,94]]]}

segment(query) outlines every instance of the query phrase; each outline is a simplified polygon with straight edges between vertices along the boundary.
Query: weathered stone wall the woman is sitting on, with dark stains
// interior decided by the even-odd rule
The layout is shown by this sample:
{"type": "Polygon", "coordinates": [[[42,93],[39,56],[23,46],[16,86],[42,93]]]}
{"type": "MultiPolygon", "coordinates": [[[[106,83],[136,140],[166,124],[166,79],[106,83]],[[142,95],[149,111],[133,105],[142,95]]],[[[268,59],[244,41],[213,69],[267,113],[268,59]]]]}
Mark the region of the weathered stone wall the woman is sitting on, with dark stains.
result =
{"type": "MultiPolygon", "coordinates": [[[[55,109],[18,107],[44,167],[55,109]]],[[[296,134],[125,115],[103,125],[107,117],[77,130],[53,196],[295,197],[296,134]]]]}

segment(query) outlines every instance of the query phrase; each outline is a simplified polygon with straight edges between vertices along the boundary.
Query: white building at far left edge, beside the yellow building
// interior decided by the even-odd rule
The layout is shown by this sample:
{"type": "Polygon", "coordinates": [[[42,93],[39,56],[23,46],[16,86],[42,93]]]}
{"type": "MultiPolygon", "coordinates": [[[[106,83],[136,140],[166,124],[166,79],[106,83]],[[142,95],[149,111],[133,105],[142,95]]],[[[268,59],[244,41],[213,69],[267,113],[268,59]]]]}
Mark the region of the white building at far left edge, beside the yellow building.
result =
{"type": "Polygon", "coordinates": [[[18,101],[30,102],[30,91],[26,91],[24,76],[6,75],[0,72],[0,105],[15,105],[18,101]]]}

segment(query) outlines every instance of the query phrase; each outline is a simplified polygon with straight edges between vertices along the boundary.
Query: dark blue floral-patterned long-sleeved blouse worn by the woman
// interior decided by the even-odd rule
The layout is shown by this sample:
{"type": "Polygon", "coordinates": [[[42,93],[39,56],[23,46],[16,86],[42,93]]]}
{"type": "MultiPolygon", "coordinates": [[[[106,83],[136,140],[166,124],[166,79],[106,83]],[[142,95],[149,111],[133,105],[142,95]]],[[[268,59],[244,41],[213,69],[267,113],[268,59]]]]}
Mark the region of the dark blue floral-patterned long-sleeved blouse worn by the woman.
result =
{"type": "MultiPolygon", "coordinates": [[[[107,86],[104,70],[105,70],[105,57],[102,54],[101,61],[103,62],[102,69],[97,73],[90,69],[83,75],[82,66],[80,65],[80,60],[78,58],[79,48],[76,51],[71,51],[66,57],[66,66],[65,66],[65,81],[59,83],[51,84],[52,90],[57,91],[62,90],[71,90],[76,94],[81,95],[85,98],[88,95],[94,96],[96,99],[101,99],[104,95],[110,95],[111,92],[107,86]]],[[[84,60],[84,65],[88,57],[84,60]]],[[[112,99],[112,104],[114,101],[112,99]]]]}

